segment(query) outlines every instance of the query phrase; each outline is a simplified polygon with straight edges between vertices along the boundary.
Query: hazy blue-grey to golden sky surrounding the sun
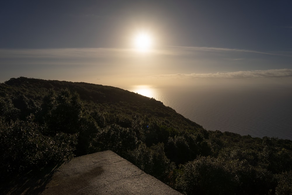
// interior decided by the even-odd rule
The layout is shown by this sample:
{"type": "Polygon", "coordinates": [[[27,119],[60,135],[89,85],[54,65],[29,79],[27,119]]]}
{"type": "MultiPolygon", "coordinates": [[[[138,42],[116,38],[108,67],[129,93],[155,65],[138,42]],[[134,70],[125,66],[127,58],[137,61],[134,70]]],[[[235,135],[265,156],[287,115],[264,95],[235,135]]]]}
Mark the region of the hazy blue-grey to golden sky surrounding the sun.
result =
{"type": "Polygon", "coordinates": [[[0,2],[0,82],[292,84],[292,1],[0,2]],[[133,46],[147,32],[152,46],[133,46]]]}

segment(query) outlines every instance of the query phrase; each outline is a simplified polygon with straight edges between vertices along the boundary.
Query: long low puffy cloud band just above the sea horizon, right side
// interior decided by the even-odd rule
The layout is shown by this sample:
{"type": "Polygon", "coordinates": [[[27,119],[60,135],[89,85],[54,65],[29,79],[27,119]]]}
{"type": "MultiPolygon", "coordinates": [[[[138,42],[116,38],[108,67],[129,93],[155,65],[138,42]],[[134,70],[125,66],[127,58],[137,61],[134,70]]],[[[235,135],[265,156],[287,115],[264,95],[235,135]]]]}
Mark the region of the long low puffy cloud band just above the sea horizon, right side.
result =
{"type": "Polygon", "coordinates": [[[251,70],[237,71],[229,73],[191,73],[191,74],[172,74],[172,75],[154,75],[154,77],[172,77],[181,79],[198,78],[274,78],[274,77],[292,77],[292,69],[272,69],[272,70],[251,70]]]}

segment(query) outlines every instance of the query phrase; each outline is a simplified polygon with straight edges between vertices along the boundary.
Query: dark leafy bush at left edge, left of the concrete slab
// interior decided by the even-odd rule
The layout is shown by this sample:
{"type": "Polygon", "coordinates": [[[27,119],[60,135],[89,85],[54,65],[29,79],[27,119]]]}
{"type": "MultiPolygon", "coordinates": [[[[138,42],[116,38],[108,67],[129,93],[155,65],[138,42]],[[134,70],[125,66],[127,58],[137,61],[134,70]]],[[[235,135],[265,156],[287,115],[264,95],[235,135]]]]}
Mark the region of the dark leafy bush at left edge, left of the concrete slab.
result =
{"type": "Polygon", "coordinates": [[[69,160],[73,157],[76,135],[41,134],[41,127],[32,121],[0,123],[1,176],[69,160]]]}

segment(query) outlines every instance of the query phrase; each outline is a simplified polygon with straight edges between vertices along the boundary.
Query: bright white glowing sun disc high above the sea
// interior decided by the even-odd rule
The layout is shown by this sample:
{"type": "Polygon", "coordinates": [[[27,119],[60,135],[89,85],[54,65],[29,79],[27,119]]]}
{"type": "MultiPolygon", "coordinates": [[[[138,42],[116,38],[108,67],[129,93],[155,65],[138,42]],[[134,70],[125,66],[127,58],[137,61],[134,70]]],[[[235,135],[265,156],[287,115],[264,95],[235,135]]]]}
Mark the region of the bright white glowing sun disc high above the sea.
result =
{"type": "Polygon", "coordinates": [[[152,46],[152,37],[147,32],[139,32],[134,37],[134,46],[139,51],[148,51],[152,46]]]}

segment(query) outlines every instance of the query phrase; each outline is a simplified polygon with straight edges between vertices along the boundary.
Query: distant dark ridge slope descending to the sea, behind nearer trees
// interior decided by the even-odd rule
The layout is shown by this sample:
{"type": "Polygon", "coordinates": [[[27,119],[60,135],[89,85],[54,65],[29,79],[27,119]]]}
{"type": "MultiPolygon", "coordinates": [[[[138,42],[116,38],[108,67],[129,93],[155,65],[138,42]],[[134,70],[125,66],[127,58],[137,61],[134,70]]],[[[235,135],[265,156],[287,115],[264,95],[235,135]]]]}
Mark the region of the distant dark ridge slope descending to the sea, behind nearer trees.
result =
{"type": "Polygon", "coordinates": [[[164,121],[164,125],[179,129],[184,127],[188,129],[202,128],[176,113],[172,108],[164,106],[160,101],[117,87],[26,77],[12,78],[0,85],[1,95],[17,96],[23,94],[34,101],[40,101],[51,89],[55,91],[69,89],[70,92],[77,92],[81,101],[84,102],[84,106],[91,111],[96,109],[91,108],[91,106],[97,106],[97,109],[107,113],[130,116],[138,114],[159,118],[160,121],[164,121]]]}

